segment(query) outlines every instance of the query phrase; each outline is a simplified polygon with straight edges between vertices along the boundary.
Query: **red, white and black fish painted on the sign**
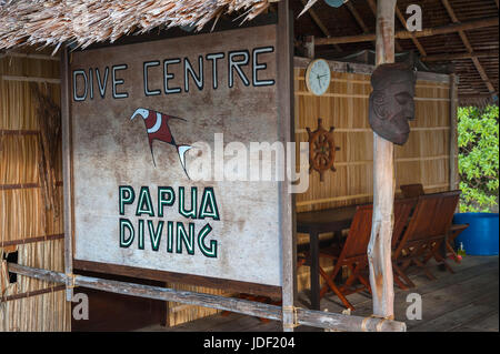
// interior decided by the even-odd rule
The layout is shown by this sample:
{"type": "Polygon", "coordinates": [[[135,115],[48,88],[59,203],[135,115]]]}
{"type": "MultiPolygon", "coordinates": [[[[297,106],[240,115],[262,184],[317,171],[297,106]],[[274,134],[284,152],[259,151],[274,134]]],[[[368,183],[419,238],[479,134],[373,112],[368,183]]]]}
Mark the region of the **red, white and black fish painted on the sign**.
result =
{"type": "Polygon", "coordinates": [[[189,179],[188,172],[186,171],[186,152],[192,149],[190,145],[178,144],[173,139],[172,132],[170,131],[169,121],[171,119],[178,119],[186,122],[186,119],[168,115],[158,111],[138,108],[136,112],[130,117],[130,120],[133,120],[137,115],[142,117],[146,125],[146,130],[148,132],[149,140],[149,149],[151,150],[151,156],[153,160],[154,166],[157,163],[154,162],[154,155],[152,152],[152,142],[154,140],[159,140],[166,142],[170,145],[176,146],[177,153],[179,154],[179,160],[184,170],[186,175],[189,179]]]}

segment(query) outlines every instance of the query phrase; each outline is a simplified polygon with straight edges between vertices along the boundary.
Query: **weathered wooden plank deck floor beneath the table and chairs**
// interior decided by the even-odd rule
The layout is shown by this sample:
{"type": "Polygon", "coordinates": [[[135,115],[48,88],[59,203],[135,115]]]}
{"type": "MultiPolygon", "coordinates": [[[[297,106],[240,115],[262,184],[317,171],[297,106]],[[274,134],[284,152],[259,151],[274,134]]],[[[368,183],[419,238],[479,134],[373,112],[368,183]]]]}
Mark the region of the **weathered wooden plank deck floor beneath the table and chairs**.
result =
{"type": "MultiPolygon", "coordinates": [[[[401,291],[396,287],[396,318],[404,321],[409,332],[460,332],[499,331],[499,259],[498,256],[466,256],[461,264],[450,262],[456,274],[431,266],[438,277],[428,280],[424,275],[410,276],[417,287],[401,291]],[[422,320],[409,321],[406,316],[407,296],[418,293],[422,296],[422,320]]],[[[369,316],[371,297],[366,293],[352,294],[349,301],[357,309],[352,314],[369,316]]],[[[307,293],[300,293],[298,306],[307,307],[307,293]]],[[[337,296],[329,293],[321,300],[321,310],[340,313],[343,307],[337,296]]],[[[166,328],[160,325],[141,331],[196,331],[196,332],[277,332],[281,323],[261,322],[259,318],[220,314],[166,328]]],[[[300,326],[299,332],[316,332],[320,328],[300,326]]]]}

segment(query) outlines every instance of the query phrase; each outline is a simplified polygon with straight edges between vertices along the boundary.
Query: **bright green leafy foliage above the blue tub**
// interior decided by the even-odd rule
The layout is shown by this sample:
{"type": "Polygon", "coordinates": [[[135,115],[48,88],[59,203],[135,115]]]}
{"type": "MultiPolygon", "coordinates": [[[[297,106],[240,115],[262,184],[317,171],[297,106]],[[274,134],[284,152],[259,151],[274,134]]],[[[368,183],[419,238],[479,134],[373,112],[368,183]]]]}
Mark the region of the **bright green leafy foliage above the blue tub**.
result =
{"type": "Polygon", "coordinates": [[[498,107],[458,109],[460,212],[491,212],[498,201],[498,107]]]}

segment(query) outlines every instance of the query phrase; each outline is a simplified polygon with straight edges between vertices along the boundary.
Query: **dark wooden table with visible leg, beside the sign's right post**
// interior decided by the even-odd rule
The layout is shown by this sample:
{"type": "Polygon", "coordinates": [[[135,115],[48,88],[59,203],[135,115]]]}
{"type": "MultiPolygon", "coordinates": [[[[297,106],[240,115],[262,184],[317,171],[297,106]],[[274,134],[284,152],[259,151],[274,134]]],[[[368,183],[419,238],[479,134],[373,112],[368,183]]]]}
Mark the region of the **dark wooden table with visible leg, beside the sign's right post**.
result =
{"type": "Polygon", "coordinates": [[[319,234],[349,229],[357,205],[297,214],[297,232],[309,234],[311,254],[311,309],[320,310],[319,234]]]}

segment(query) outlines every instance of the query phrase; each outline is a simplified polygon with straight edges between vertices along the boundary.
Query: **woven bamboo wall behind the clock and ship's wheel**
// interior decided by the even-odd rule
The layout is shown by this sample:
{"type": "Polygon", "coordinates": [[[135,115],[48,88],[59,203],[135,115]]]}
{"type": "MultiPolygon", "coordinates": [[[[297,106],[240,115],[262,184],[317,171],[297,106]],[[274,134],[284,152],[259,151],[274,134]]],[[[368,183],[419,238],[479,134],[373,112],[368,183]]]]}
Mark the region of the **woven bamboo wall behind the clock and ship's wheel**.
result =
{"type": "MultiPolygon", "coordinates": [[[[330,88],[322,97],[309,93],[303,68],[294,69],[296,139],[308,141],[306,128],[317,129],[318,118],[324,129],[336,128],[337,172],[327,171],[324,181],[313,171],[309,189],[298,194],[298,212],[323,210],[372,201],[373,195],[373,133],[368,122],[370,75],[364,73],[332,72],[330,88]]],[[[422,183],[426,192],[449,189],[450,90],[448,83],[417,82],[416,120],[403,146],[396,148],[396,188],[422,183]]],[[[326,237],[328,235],[321,235],[326,237]]],[[[308,236],[298,235],[298,243],[308,236]]],[[[324,260],[321,260],[324,261],[324,260]]],[[[331,262],[321,264],[327,270],[331,262]]],[[[309,267],[298,274],[299,291],[309,287],[309,267]]]]}

